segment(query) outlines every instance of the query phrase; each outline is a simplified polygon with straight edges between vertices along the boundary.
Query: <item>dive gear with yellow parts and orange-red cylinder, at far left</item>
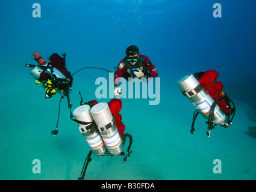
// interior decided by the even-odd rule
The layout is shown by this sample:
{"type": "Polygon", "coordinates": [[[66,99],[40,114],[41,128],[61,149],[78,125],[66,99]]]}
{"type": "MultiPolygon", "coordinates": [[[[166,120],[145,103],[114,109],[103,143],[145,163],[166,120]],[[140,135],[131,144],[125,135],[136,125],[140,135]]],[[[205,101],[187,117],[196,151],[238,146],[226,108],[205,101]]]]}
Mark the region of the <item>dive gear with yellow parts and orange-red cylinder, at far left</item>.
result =
{"type": "Polygon", "coordinates": [[[66,94],[71,91],[73,77],[67,71],[66,53],[63,53],[62,56],[53,53],[48,63],[38,52],[33,53],[33,56],[38,65],[26,63],[25,67],[31,68],[30,74],[36,79],[37,84],[42,82],[42,86],[46,91],[45,98],[51,98],[56,92],[58,94],[66,94]]]}

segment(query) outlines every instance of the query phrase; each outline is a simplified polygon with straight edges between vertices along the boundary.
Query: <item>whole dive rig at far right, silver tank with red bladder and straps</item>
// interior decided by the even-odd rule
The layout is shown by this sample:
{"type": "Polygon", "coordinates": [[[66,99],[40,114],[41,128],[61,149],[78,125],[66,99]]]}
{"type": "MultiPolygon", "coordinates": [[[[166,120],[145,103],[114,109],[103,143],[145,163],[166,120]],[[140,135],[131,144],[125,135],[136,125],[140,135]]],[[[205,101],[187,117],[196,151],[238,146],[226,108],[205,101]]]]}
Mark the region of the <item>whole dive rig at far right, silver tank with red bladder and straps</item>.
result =
{"type": "Polygon", "coordinates": [[[194,124],[199,113],[208,119],[207,136],[215,125],[228,128],[234,119],[236,107],[223,91],[223,83],[216,81],[219,73],[214,70],[185,76],[177,82],[183,95],[196,107],[190,133],[195,131],[194,124]],[[233,104],[233,107],[231,107],[233,104]],[[231,116],[232,115],[232,116],[231,116]]]}

